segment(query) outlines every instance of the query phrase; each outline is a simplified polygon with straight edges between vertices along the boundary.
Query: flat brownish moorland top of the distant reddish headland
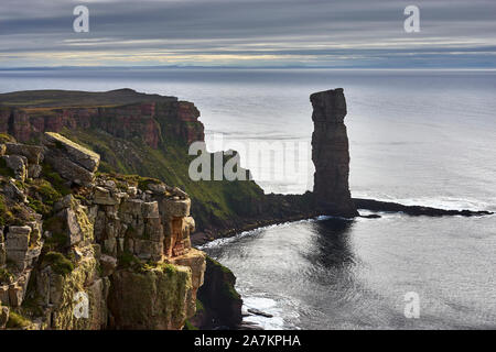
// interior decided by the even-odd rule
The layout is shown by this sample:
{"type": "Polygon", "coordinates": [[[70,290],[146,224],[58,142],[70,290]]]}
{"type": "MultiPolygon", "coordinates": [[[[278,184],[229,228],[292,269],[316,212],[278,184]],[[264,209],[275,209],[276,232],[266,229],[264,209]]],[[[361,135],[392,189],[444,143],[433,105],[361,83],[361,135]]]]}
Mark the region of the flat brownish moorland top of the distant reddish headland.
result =
{"type": "Polygon", "coordinates": [[[148,95],[129,88],[109,91],[24,90],[0,95],[0,106],[23,108],[108,107],[149,101],[177,101],[176,97],[148,95]]]}

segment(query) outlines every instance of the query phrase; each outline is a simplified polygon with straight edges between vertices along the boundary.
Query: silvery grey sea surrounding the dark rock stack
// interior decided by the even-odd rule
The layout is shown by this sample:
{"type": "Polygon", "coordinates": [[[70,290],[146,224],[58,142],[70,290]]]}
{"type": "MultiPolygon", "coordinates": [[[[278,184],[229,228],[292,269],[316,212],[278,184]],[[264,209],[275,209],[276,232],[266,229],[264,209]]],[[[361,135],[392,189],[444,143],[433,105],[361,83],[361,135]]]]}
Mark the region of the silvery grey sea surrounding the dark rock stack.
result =
{"type": "MultiPolygon", "coordinates": [[[[310,94],[342,87],[353,196],[496,211],[496,72],[0,72],[1,92],[123,87],[195,102],[208,148],[238,150],[266,193],[284,194],[312,188],[310,94]]],[[[274,316],[247,318],[266,328],[496,329],[495,216],[381,216],[323,215],[204,250],[234,271],[246,308],[274,316]]]]}

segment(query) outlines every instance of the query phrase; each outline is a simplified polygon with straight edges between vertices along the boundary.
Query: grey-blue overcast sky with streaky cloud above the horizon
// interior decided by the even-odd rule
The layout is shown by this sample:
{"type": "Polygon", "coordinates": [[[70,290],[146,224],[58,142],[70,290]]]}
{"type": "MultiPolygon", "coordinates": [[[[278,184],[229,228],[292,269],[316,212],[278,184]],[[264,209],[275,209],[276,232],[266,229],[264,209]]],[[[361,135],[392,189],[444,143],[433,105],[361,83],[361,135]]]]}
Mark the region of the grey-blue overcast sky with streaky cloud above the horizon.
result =
{"type": "Polygon", "coordinates": [[[495,20],[495,0],[1,0],[0,68],[496,68],[495,20]]]}

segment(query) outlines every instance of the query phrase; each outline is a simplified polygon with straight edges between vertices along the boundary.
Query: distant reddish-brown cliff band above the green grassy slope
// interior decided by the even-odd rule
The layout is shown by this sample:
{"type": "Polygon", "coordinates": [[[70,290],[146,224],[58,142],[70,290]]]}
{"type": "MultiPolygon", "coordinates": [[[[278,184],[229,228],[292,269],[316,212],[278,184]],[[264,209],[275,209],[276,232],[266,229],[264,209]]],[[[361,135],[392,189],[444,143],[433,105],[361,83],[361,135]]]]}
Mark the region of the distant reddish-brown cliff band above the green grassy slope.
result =
{"type": "MultiPolygon", "coordinates": [[[[69,94],[58,91],[56,98],[51,96],[53,101],[48,105],[36,103],[41,99],[46,100],[46,94],[42,91],[29,96],[31,103],[18,101],[17,96],[0,95],[0,103],[8,101],[8,106],[0,108],[0,133],[8,133],[20,142],[28,142],[40,138],[43,132],[61,132],[64,128],[99,129],[116,138],[139,139],[158,148],[165,138],[161,127],[171,124],[174,128],[168,132],[172,132],[174,138],[184,140],[185,143],[204,140],[204,127],[198,121],[200,111],[191,102],[177,101],[174,97],[148,96],[121,89],[101,101],[95,98],[97,94],[87,94],[95,100],[93,105],[97,106],[89,103],[82,108],[73,107],[77,103],[77,98],[73,101],[64,99],[69,94]],[[120,101],[140,99],[139,102],[119,105],[120,101]],[[22,108],[15,106],[15,102],[21,102],[22,108]]],[[[83,97],[86,96],[79,99],[84,99],[83,97]]]]}

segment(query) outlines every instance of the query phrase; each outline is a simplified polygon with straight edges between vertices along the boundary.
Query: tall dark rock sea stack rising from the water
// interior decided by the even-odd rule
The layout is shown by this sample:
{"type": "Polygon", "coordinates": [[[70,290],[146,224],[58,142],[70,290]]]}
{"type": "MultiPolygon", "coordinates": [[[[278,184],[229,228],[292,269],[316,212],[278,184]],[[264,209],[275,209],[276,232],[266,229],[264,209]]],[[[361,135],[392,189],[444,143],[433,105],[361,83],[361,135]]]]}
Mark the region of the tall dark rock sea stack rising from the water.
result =
{"type": "Polygon", "coordinates": [[[313,106],[312,161],[315,165],[313,193],[316,208],[330,216],[358,215],[349,193],[349,150],[344,118],[343,88],[315,92],[313,106]]]}

